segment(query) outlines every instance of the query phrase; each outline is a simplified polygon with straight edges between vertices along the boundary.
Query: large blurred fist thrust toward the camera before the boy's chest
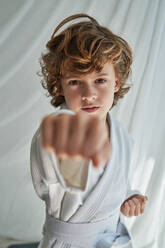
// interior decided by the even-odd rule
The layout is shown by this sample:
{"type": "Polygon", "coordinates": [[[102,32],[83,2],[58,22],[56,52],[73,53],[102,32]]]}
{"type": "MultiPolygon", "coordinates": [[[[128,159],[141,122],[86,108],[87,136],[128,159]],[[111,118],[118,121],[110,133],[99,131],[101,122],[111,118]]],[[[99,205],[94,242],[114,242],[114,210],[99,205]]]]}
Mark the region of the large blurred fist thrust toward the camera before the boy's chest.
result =
{"type": "Polygon", "coordinates": [[[112,153],[106,125],[86,113],[46,116],[41,123],[42,146],[58,158],[91,159],[98,167],[112,153]]]}

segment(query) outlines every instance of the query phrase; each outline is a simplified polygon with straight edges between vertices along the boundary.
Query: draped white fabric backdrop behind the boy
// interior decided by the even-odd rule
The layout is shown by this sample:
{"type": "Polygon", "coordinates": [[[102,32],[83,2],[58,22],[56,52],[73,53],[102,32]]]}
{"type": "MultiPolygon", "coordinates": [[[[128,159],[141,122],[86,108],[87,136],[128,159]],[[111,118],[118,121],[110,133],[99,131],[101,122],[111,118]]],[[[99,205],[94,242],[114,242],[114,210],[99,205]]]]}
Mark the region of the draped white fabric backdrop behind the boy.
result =
{"type": "Polygon", "coordinates": [[[165,0],[0,0],[0,235],[41,238],[44,203],[32,186],[30,143],[54,108],[36,72],[55,26],[75,13],[92,15],[133,49],[133,87],[112,112],[135,141],[132,187],[149,201],[125,222],[135,248],[165,247],[165,0]]]}

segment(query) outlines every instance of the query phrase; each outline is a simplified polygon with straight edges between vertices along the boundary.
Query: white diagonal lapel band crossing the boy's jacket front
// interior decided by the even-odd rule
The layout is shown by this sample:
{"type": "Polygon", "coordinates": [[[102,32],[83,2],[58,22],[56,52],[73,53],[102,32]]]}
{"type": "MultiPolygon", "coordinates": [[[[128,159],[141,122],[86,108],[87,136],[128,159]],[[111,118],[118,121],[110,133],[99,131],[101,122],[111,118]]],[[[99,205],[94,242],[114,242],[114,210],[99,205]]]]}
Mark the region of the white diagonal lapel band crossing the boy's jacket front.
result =
{"type": "MultiPolygon", "coordinates": [[[[113,188],[114,178],[118,176],[118,169],[115,169],[116,166],[116,140],[115,140],[115,127],[110,115],[108,112],[108,120],[111,120],[111,141],[112,141],[112,155],[109,159],[107,166],[105,167],[105,171],[98,181],[97,185],[93,189],[93,191],[88,195],[83,205],[76,211],[76,213],[68,220],[69,222],[89,222],[95,216],[97,211],[104,204],[105,197],[110,193],[110,189],[113,188]]],[[[114,192],[113,192],[114,194],[114,192]]]]}

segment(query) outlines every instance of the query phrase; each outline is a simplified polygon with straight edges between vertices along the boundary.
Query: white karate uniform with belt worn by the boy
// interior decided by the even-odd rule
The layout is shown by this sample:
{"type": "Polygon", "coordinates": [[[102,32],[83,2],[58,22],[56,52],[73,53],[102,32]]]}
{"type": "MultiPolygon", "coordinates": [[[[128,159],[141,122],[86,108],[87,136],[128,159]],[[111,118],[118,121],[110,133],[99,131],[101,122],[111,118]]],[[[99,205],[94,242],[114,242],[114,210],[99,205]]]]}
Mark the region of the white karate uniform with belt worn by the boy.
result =
{"type": "MultiPolygon", "coordinates": [[[[74,114],[62,105],[60,113],[74,114]]],[[[83,190],[66,184],[58,169],[58,159],[42,149],[40,128],[31,144],[30,162],[34,188],[46,204],[43,239],[39,248],[110,248],[130,244],[131,237],[122,223],[120,207],[134,194],[128,172],[132,138],[108,112],[111,124],[112,154],[107,165],[95,169],[90,161],[83,190]]]]}

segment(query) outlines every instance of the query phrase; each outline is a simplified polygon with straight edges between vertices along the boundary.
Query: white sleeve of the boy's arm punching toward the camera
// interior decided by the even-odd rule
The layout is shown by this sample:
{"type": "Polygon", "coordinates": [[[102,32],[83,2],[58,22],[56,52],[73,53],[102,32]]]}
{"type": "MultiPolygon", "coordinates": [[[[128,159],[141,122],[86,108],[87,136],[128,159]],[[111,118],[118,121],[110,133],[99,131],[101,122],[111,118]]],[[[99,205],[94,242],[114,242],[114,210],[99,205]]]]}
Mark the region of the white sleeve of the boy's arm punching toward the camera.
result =
{"type": "MultiPolygon", "coordinates": [[[[60,113],[64,113],[64,111],[60,113]]],[[[80,193],[87,189],[89,166],[82,165],[82,162],[77,164],[75,161],[68,160],[60,167],[60,162],[55,154],[42,148],[40,128],[32,139],[30,166],[35,191],[43,200],[46,200],[50,193],[50,185],[53,185],[53,188],[56,185],[61,192],[80,193]],[[66,170],[65,168],[68,166],[69,170],[66,170]],[[66,175],[69,175],[69,178],[66,175]]]]}

